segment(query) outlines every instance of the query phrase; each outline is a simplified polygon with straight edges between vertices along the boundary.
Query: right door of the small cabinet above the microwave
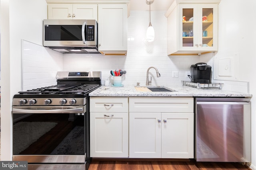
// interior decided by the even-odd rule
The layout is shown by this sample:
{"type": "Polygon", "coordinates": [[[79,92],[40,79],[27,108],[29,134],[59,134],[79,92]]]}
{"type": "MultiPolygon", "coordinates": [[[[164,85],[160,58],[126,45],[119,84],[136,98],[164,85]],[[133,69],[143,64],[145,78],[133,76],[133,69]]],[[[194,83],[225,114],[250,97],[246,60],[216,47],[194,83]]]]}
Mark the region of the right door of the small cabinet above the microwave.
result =
{"type": "Polygon", "coordinates": [[[97,20],[97,4],[73,4],[73,19],[97,20]]]}

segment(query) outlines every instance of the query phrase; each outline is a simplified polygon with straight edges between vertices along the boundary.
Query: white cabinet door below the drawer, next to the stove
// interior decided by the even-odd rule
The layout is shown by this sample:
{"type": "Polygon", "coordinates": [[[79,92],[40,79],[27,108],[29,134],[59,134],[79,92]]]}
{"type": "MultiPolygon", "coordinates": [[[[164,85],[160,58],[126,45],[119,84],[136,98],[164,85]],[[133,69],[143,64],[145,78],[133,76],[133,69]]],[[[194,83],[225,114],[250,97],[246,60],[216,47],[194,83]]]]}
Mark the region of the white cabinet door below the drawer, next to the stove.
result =
{"type": "Polygon", "coordinates": [[[128,113],[90,113],[90,156],[128,157],[128,113]]]}

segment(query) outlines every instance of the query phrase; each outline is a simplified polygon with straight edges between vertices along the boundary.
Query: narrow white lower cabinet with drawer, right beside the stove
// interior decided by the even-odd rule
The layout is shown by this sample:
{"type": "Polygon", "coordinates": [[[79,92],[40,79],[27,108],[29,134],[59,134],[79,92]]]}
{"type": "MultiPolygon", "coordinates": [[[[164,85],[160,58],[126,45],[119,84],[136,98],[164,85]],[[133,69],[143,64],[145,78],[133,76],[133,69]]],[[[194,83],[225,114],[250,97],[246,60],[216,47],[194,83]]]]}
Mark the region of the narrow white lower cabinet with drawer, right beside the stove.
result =
{"type": "Polygon", "coordinates": [[[128,158],[128,98],[90,98],[90,157],[128,158]]]}

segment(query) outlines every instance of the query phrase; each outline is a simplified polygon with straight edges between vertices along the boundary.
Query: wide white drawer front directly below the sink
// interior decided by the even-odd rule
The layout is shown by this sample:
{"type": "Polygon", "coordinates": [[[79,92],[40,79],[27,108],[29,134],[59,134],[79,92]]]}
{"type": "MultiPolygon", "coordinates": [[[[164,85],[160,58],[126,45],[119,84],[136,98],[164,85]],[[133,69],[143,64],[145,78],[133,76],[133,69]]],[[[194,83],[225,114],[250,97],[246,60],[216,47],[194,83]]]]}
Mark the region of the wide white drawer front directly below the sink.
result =
{"type": "Polygon", "coordinates": [[[194,98],[129,98],[130,112],[194,112],[194,98]]]}

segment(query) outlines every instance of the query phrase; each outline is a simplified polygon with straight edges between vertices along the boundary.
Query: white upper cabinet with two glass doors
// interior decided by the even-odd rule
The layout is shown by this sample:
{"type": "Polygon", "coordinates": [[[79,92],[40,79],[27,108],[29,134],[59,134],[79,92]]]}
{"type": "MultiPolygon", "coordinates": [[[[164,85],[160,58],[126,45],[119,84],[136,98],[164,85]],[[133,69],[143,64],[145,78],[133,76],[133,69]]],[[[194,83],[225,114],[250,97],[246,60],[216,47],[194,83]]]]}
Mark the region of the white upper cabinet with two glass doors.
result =
{"type": "Polygon", "coordinates": [[[176,4],[168,17],[168,55],[218,51],[218,4],[176,4]]]}

